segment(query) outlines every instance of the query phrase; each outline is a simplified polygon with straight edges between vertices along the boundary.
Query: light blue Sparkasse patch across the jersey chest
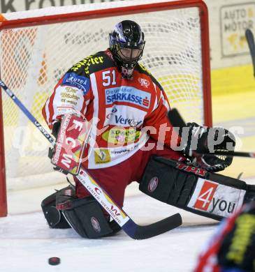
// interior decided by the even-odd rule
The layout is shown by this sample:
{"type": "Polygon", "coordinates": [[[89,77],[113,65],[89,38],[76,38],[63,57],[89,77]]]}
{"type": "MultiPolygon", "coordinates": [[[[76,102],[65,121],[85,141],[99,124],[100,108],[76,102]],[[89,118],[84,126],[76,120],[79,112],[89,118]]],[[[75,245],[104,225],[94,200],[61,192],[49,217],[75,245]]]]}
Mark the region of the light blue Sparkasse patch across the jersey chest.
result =
{"type": "Polygon", "coordinates": [[[127,102],[148,109],[150,107],[150,93],[140,91],[130,86],[119,86],[105,89],[106,104],[114,102],[127,102]]]}

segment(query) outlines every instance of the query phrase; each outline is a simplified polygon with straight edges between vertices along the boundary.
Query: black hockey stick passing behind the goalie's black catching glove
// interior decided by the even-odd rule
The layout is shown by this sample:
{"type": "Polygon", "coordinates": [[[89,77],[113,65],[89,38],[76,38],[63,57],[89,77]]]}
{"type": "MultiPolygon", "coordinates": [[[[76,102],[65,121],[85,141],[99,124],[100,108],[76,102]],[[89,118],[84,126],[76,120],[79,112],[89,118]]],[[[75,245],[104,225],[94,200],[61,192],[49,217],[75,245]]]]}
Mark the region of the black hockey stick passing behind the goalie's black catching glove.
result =
{"type": "MultiPolygon", "coordinates": [[[[177,109],[171,109],[168,112],[168,119],[172,123],[174,128],[183,128],[187,126],[187,124],[182,119],[180,112],[177,109]]],[[[179,131],[178,131],[179,132],[179,131]]],[[[215,150],[213,153],[196,150],[196,153],[206,154],[209,156],[235,156],[235,157],[245,157],[245,158],[255,158],[255,153],[253,152],[242,152],[242,151],[217,151],[215,150]]]]}

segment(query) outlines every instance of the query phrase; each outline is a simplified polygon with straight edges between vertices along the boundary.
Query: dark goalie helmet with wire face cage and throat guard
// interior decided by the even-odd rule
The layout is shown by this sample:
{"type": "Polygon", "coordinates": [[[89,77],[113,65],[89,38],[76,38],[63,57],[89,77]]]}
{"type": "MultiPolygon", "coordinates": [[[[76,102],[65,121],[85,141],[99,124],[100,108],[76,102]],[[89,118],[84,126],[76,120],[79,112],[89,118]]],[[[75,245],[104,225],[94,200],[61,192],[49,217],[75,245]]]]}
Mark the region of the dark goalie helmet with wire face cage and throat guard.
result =
{"type": "Polygon", "coordinates": [[[124,20],[116,24],[110,35],[110,50],[122,70],[122,77],[131,80],[133,70],[143,56],[144,33],[136,22],[124,20]]]}

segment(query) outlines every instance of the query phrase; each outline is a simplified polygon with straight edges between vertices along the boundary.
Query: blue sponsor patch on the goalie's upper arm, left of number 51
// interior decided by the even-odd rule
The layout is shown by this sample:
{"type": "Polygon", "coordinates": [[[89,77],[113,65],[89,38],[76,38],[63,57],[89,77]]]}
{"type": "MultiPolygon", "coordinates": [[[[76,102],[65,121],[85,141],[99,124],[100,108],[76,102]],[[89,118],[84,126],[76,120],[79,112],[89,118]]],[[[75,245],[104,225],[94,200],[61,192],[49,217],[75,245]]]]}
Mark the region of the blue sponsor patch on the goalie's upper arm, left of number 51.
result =
{"type": "Polygon", "coordinates": [[[64,76],[61,85],[77,87],[78,89],[81,89],[84,94],[89,91],[89,79],[87,79],[87,77],[76,75],[75,73],[67,73],[64,76]]]}

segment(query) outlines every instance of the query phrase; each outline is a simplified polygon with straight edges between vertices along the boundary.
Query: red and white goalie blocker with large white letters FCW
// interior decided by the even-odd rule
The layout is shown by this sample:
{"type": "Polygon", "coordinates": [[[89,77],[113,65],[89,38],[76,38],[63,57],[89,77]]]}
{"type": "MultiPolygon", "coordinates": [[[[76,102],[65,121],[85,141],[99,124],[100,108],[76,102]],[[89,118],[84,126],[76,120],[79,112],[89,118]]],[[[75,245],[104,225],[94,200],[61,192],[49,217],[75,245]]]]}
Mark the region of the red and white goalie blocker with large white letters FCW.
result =
{"type": "Polygon", "coordinates": [[[91,123],[74,114],[63,116],[61,124],[54,123],[52,133],[57,140],[49,157],[55,170],[78,174],[91,128],[91,123]]]}

